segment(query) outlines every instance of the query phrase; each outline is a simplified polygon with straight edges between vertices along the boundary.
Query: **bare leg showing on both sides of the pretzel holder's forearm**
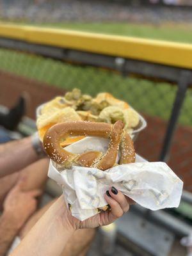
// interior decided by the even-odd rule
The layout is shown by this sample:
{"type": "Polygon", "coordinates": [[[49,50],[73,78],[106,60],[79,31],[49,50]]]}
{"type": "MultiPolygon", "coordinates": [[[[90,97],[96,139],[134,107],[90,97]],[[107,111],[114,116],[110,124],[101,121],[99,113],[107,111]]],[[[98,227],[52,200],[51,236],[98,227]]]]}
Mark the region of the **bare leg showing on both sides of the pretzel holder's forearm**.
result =
{"type": "MultiPolygon", "coordinates": [[[[26,225],[20,231],[20,239],[23,239],[26,234],[28,234],[29,230],[35,225],[36,221],[44,214],[47,209],[54,203],[54,200],[49,204],[45,205],[42,209],[35,212],[33,216],[28,220],[26,225]]],[[[61,256],[84,256],[88,252],[90,243],[93,241],[93,237],[95,236],[95,229],[81,229],[77,230],[74,233],[74,236],[68,241],[67,246],[65,246],[65,250],[61,256]]]]}

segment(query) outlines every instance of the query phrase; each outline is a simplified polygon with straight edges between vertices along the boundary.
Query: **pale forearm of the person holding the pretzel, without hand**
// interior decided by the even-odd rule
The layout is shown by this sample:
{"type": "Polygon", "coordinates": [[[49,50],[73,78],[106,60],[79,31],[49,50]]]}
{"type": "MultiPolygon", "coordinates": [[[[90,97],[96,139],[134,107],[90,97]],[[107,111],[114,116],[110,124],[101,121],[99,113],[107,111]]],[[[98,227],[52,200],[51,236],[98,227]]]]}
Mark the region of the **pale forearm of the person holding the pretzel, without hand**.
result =
{"type": "Polygon", "coordinates": [[[74,233],[65,218],[67,209],[64,204],[63,196],[60,196],[24,237],[12,256],[61,255],[68,239],[74,233]]]}

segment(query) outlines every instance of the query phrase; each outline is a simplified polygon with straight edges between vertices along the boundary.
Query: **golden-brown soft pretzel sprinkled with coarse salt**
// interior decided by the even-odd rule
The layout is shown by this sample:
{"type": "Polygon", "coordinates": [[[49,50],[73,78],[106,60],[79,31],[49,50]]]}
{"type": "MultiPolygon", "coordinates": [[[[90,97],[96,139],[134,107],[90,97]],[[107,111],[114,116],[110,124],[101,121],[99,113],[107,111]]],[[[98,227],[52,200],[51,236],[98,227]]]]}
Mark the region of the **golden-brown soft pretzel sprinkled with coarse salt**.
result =
{"type": "Polygon", "coordinates": [[[131,138],[124,133],[124,123],[117,121],[114,125],[96,122],[64,122],[53,125],[44,136],[44,148],[49,157],[65,168],[73,163],[86,167],[107,170],[115,162],[120,146],[122,152],[120,163],[133,163],[135,159],[134,147],[131,138]],[[106,153],[91,151],[84,154],[73,154],[61,147],[61,142],[68,136],[98,136],[109,139],[109,148],[106,153]]]}

